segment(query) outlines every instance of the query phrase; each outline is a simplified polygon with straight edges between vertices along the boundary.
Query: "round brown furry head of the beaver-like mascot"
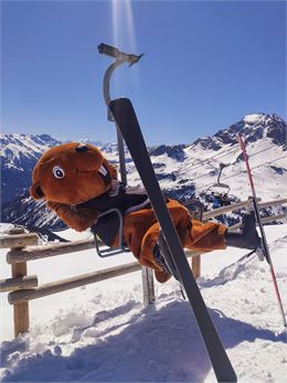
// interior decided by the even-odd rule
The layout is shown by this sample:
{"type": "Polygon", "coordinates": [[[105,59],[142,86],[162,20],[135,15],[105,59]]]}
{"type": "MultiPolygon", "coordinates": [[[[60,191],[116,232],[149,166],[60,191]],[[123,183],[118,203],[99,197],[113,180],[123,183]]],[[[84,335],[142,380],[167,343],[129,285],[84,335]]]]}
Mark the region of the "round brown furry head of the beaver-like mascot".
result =
{"type": "Polygon", "coordinates": [[[79,204],[111,187],[117,178],[102,152],[92,145],[71,142],[49,149],[38,161],[30,193],[35,200],[79,204]]]}

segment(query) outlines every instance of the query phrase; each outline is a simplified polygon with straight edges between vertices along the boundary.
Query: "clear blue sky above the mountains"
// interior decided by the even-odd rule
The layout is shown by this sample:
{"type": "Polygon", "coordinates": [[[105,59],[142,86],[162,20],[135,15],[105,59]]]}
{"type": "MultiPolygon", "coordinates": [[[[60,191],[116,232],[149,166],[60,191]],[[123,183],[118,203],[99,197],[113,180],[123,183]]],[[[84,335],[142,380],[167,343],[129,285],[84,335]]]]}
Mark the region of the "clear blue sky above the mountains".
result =
{"type": "Polygon", "coordinates": [[[246,114],[286,119],[285,1],[2,1],[2,130],[116,140],[100,42],[146,55],[113,77],[149,145],[246,114]]]}

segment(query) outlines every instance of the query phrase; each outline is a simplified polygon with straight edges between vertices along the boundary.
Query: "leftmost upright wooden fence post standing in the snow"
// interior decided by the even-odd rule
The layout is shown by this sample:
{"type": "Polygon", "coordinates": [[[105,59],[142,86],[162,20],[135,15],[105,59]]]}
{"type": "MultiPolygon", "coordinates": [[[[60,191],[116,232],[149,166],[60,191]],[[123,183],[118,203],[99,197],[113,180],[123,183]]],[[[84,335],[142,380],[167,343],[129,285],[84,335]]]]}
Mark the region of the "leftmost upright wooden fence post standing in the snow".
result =
{"type": "MultiPolygon", "coordinates": [[[[22,227],[11,228],[9,231],[10,235],[21,235],[25,231],[22,227]]],[[[21,249],[23,247],[18,247],[21,249]]],[[[26,262],[20,262],[12,265],[12,278],[26,276],[26,262]]],[[[13,305],[13,316],[14,316],[14,336],[18,337],[21,332],[26,332],[29,330],[29,302],[20,302],[13,305]]]]}

